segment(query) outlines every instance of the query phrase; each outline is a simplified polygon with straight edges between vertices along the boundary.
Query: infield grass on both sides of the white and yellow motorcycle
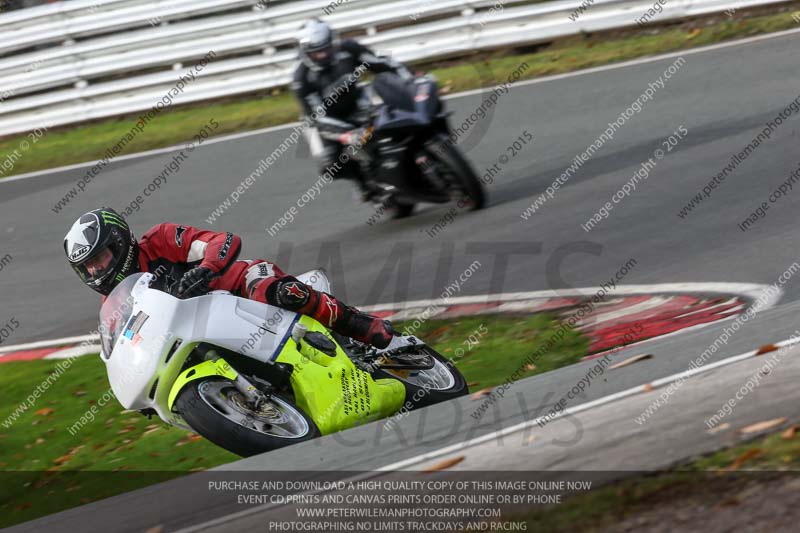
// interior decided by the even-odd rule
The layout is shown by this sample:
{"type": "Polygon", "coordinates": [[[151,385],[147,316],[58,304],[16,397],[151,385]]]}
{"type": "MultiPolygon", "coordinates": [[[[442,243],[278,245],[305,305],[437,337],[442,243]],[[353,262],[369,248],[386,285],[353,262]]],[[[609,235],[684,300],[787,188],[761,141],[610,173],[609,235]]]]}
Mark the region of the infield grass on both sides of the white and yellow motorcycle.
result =
{"type": "MultiPolygon", "coordinates": [[[[464,350],[457,365],[474,389],[502,383],[556,325],[547,315],[478,317],[432,320],[415,333],[446,356],[464,350]],[[478,330],[485,333],[465,344],[478,330]]],[[[525,377],[572,364],[586,353],[587,346],[586,340],[571,332],[525,377]]],[[[6,417],[57,364],[0,365],[0,474],[4,476],[0,527],[238,459],[157,418],[126,412],[110,395],[106,398],[111,400],[101,407],[98,402],[109,386],[105,366],[96,356],[77,359],[32,408],[5,427],[6,417]],[[71,435],[68,428],[93,405],[99,410],[95,420],[71,435]]]]}

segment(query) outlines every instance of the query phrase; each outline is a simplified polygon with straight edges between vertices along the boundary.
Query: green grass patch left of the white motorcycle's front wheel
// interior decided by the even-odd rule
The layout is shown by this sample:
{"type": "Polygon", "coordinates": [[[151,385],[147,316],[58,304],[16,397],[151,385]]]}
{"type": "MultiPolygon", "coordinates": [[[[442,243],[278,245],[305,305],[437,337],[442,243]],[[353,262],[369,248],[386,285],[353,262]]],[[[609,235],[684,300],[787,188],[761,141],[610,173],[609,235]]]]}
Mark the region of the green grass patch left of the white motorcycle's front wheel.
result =
{"type": "MultiPolygon", "coordinates": [[[[7,421],[57,363],[2,365],[0,422],[7,421]]],[[[71,435],[67,428],[97,404],[108,388],[100,359],[81,357],[33,408],[8,428],[0,424],[0,527],[238,458],[160,420],[124,412],[113,397],[98,408],[94,422],[71,435]],[[65,474],[74,471],[139,474],[65,474]]]]}

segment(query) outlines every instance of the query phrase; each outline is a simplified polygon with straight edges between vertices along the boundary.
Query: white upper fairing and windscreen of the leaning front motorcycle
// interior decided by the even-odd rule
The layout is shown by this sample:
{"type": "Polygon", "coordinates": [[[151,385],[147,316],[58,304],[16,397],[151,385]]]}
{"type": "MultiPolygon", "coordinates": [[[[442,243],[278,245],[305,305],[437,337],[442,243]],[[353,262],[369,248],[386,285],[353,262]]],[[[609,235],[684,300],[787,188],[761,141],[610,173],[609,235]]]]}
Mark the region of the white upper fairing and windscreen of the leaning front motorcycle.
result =
{"type": "MultiPolygon", "coordinates": [[[[297,278],[317,290],[330,291],[321,270],[297,278]]],[[[167,422],[175,422],[167,412],[166,399],[191,351],[188,347],[205,342],[259,361],[272,361],[299,319],[291,311],[224,291],[179,300],[150,289],[152,279],[152,274],[131,276],[104,303],[101,358],[111,389],[123,407],[155,409],[167,422]]]]}

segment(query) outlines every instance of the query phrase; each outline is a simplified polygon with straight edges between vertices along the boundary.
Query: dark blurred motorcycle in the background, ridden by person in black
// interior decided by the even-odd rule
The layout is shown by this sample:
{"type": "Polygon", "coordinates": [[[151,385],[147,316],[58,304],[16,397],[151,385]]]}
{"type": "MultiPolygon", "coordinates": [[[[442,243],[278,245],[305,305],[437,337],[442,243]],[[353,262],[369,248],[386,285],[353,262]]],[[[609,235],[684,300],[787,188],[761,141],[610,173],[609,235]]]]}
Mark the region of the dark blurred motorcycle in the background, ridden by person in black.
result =
{"type": "Polygon", "coordinates": [[[406,83],[382,73],[371,84],[361,84],[361,94],[366,116],[360,122],[365,126],[326,117],[319,131],[344,145],[358,162],[367,185],[376,191],[376,203],[393,218],[411,215],[420,202],[457,201],[469,210],[484,206],[483,184],[450,140],[449,113],[432,76],[406,83]]]}

